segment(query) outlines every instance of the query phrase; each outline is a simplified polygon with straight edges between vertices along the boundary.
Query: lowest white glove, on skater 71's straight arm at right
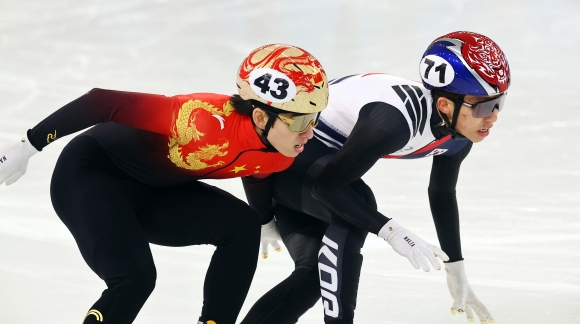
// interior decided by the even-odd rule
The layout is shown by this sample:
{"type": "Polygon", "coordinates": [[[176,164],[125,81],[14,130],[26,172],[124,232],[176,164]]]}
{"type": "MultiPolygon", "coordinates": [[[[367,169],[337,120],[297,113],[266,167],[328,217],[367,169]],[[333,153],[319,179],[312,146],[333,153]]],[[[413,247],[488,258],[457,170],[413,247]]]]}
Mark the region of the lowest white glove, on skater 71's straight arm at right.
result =
{"type": "Polygon", "coordinates": [[[445,271],[447,272],[447,287],[451,297],[453,297],[451,314],[467,313],[467,320],[473,322],[473,313],[475,312],[481,324],[495,322],[485,305],[477,299],[473,289],[471,289],[465,275],[463,260],[446,263],[445,271]]]}

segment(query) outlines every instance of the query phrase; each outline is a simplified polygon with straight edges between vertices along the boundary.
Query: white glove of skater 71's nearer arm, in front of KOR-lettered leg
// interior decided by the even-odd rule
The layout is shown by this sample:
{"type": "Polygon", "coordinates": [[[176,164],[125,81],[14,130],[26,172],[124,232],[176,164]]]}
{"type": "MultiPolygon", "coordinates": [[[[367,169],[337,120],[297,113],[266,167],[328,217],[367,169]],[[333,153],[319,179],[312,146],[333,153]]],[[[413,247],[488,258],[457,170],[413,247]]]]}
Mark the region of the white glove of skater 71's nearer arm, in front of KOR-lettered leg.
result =
{"type": "Polygon", "coordinates": [[[437,270],[441,269],[437,257],[443,261],[449,260],[447,254],[440,248],[423,241],[423,239],[411,233],[406,228],[401,227],[392,219],[381,228],[379,237],[387,241],[397,253],[407,257],[416,269],[422,267],[425,271],[430,270],[425,257],[429,259],[433,267],[437,270]]]}

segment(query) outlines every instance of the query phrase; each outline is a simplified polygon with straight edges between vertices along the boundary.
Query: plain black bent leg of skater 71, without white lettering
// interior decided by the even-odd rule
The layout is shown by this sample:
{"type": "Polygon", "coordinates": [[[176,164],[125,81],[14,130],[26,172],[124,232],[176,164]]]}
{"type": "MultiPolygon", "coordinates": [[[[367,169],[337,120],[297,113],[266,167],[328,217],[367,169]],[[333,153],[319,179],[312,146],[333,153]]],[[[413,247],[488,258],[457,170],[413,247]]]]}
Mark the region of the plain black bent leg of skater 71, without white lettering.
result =
{"type": "Polygon", "coordinates": [[[296,323],[320,299],[317,257],[328,224],[282,205],[276,205],[275,215],[295,270],[262,296],[241,324],[296,323]]]}

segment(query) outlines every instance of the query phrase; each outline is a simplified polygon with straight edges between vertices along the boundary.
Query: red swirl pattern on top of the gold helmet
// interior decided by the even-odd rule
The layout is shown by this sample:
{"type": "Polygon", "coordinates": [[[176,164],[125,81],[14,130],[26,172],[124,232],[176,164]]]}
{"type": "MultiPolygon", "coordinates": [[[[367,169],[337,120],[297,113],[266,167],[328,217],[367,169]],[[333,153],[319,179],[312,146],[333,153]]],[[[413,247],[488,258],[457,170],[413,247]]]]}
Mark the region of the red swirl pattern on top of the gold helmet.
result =
{"type": "MultiPolygon", "coordinates": [[[[267,47],[270,45],[266,45],[263,47],[267,47]]],[[[283,55],[282,53],[288,49],[286,46],[280,46],[266,55],[264,58],[257,62],[253,62],[254,55],[259,52],[263,47],[256,49],[252,52],[242,63],[242,67],[240,68],[240,78],[242,80],[247,80],[249,78],[250,73],[256,67],[261,66],[269,66],[271,69],[276,71],[280,71],[284,73],[286,76],[294,82],[296,87],[301,87],[308,93],[314,91],[314,85],[324,81],[323,73],[324,70],[322,69],[322,65],[318,60],[314,59],[308,52],[304,51],[299,47],[295,47],[302,51],[302,54],[298,56],[288,56],[283,55]],[[270,64],[270,62],[272,62],[270,64]],[[292,66],[292,68],[288,68],[292,66]],[[312,66],[314,70],[317,71],[316,73],[305,73],[300,71],[299,66],[312,66]],[[299,71],[296,71],[298,67],[299,71]]]]}

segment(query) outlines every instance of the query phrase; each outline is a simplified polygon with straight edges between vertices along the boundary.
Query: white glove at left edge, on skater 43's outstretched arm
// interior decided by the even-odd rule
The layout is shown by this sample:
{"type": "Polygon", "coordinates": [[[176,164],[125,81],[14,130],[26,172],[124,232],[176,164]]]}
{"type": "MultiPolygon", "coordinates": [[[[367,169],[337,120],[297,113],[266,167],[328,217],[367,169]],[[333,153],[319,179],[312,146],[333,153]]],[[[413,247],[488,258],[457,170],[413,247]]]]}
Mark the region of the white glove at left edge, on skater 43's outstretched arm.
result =
{"type": "Polygon", "coordinates": [[[9,186],[20,179],[28,167],[28,160],[38,151],[28,137],[0,146],[0,184],[9,186]]]}

